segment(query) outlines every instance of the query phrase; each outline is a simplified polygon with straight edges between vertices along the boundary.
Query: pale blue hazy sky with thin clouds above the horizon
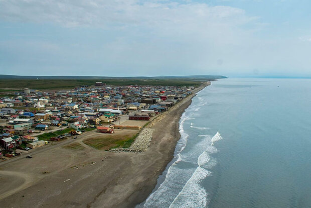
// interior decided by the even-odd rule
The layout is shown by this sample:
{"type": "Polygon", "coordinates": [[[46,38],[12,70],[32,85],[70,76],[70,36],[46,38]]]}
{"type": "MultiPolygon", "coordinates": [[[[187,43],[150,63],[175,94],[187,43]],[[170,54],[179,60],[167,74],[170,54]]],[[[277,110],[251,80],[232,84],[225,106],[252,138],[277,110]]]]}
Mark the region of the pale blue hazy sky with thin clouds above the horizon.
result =
{"type": "Polygon", "coordinates": [[[311,76],[309,0],[0,0],[0,74],[311,76]]]}

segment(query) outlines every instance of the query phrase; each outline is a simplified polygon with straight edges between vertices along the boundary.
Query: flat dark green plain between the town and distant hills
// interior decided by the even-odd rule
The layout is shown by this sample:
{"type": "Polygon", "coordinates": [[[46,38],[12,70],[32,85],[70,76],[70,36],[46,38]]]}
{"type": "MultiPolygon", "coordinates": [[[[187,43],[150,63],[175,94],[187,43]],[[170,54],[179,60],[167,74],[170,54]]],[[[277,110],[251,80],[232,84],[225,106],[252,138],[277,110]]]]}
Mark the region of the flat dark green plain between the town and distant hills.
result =
{"type": "Polygon", "coordinates": [[[31,88],[31,89],[68,89],[81,85],[94,85],[102,81],[109,85],[164,85],[164,86],[198,86],[195,80],[168,79],[0,79],[0,88],[31,88]]]}

